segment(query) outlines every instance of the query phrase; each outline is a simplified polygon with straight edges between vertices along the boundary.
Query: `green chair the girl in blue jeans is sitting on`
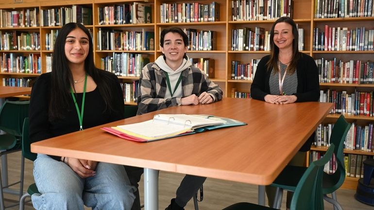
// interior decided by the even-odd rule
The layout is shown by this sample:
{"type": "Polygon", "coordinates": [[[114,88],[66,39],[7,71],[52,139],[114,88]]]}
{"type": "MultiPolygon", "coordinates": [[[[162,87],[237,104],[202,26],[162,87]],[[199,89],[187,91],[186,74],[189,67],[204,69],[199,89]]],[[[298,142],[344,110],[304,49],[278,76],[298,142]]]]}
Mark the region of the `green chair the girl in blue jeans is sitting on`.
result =
{"type": "MultiPolygon", "coordinates": [[[[22,157],[34,161],[36,159],[36,154],[31,152],[30,144],[31,142],[29,138],[29,118],[25,118],[25,121],[23,123],[22,157]]],[[[26,197],[30,197],[34,193],[39,193],[35,183],[31,184],[27,189],[27,193],[23,194],[22,197],[19,199],[19,210],[23,210],[25,208],[26,197]]]]}

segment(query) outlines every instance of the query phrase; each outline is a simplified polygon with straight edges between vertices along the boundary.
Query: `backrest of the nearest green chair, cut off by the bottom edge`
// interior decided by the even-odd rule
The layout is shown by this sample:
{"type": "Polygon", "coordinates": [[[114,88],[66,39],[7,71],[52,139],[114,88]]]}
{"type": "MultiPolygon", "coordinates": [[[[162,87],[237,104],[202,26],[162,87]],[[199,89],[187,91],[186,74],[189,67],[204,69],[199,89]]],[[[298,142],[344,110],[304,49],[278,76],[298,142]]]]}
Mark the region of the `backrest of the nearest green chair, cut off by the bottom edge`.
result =
{"type": "Polygon", "coordinates": [[[291,210],[323,210],[323,168],[331,159],[335,145],[331,144],[325,155],[310,164],[296,186],[291,210]]]}

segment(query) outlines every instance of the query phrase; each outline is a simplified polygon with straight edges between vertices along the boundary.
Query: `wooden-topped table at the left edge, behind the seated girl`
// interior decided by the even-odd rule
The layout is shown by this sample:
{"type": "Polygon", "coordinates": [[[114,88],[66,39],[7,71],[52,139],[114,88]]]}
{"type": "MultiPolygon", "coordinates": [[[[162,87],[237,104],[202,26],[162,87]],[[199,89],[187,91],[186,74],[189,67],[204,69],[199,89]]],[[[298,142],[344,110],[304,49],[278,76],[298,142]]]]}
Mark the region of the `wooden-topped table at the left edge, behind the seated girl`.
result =
{"type": "MultiPolygon", "coordinates": [[[[8,87],[8,86],[0,86],[0,107],[4,103],[4,98],[23,95],[23,94],[30,94],[31,88],[24,88],[24,87],[8,87]]],[[[1,177],[2,177],[2,186],[8,186],[8,163],[7,163],[7,156],[1,156],[1,177]]],[[[4,189],[5,192],[8,192],[9,189],[4,189]]],[[[12,193],[12,191],[10,191],[12,193]]],[[[19,193],[19,192],[18,192],[19,193]]]]}

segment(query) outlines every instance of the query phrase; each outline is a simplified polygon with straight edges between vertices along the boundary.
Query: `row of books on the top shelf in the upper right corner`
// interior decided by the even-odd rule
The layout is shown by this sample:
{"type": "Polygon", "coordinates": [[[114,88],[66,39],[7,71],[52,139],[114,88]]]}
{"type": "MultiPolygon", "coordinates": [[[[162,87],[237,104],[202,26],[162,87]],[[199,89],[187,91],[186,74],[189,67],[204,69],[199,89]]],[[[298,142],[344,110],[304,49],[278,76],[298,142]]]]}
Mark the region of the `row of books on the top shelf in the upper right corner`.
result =
{"type": "Polygon", "coordinates": [[[373,0],[315,0],[314,18],[373,17],[373,0]]]}

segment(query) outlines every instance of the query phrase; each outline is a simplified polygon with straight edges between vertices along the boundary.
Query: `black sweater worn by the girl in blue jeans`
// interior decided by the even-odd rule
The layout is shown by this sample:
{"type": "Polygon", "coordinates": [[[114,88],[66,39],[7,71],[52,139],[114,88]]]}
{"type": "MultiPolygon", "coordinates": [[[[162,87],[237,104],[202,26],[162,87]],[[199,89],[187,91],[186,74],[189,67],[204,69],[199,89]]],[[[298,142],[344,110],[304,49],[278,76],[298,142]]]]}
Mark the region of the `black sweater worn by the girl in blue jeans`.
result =
{"type": "MultiPolygon", "coordinates": [[[[85,94],[85,110],[83,116],[83,128],[90,128],[97,125],[118,121],[124,118],[124,102],[121,86],[117,76],[104,70],[100,74],[111,74],[110,83],[113,94],[112,106],[115,112],[106,110],[104,100],[96,87],[93,91],[85,94]]],[[[30,99],[30,140],[36,142],[52,137],[68,134],[79,130],[77,110],[71,98],[68,109],[64,112],[64,119],[49,121],[48,109],[51,91],[51,73],[40,75],[31,91],[30,99]]],[[[81,110],[83,93],[76,93],[76,100],[81,110]]],[[[51,156],[59,160],[61,157],[51,156]]]]}

